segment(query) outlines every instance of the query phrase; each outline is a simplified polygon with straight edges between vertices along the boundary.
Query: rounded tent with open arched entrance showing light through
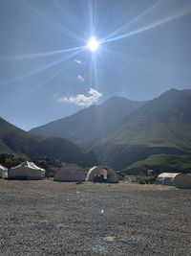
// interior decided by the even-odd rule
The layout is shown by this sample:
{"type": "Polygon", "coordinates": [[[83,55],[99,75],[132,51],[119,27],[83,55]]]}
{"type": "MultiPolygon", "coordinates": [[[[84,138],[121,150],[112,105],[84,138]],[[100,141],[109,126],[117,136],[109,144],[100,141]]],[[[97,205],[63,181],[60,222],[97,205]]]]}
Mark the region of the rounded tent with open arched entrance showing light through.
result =
{"type": "Polygon", "coordinates": [[[95,166],[86,175],[87,181],[95,181],[97,177],[102,177],[103,182],[117,183],[117,174],[114,169],[108,166],[95,166]]]}

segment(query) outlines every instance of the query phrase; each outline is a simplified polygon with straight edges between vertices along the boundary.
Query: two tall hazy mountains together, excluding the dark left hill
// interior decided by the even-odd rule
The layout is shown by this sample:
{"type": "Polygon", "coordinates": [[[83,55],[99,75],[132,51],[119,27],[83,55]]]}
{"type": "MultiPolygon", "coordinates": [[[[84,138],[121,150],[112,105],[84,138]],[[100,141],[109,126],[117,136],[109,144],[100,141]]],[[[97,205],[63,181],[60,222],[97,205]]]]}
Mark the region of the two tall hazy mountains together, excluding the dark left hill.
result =
{"type": "Polygon", "coordinates": [[[31,132],[72,139],[123,169],[153,154],[190,154],[190,109],[190,90],[171,89],[147,103],[115,97],[31,132]]]}

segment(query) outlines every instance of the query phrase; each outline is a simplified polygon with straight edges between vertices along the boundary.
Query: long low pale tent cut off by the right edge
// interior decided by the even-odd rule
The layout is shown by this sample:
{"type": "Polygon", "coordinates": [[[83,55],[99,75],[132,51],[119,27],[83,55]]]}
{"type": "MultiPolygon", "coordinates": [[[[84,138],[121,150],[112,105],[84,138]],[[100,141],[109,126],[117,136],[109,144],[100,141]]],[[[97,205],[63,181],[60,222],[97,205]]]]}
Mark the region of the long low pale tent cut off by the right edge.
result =
{"type": "Polygon", "coordinates": [[[191,188],[191,175],[180,173],[162,173],[157,178],[157,183],[177,188],[191,188]]]}

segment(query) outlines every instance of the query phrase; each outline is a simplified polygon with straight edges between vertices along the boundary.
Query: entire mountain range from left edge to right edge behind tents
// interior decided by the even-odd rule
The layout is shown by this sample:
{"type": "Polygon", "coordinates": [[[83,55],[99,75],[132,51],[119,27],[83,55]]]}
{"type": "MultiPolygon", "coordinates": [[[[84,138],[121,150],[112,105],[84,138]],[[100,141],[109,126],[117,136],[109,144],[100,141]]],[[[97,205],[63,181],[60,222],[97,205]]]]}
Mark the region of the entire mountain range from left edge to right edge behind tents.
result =
{"type": "Polygon", "coordinates": [[[190,109],[191,90],[171,89],[147,102],[113,97],[29,132],[1,119],[0,151],[68,157],[83,166],[97,158],[127,173],[140,167],[187,172],[191,170],[190,109]],[[5,126],[11,131],[6,133],[5,126]]]}

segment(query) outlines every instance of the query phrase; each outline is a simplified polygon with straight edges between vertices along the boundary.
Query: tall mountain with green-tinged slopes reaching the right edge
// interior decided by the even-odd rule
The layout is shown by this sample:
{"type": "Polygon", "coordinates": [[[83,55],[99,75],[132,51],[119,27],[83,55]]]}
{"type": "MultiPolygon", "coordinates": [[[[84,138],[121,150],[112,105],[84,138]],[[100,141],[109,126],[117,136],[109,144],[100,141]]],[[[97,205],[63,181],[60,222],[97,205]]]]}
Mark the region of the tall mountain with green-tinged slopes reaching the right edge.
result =
{"type": "Polygon", "coordinates": [[[117,169],[153,154],[191,155],[191,94],[171,89],[140,106],[95,151],[117,169]]]}

